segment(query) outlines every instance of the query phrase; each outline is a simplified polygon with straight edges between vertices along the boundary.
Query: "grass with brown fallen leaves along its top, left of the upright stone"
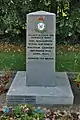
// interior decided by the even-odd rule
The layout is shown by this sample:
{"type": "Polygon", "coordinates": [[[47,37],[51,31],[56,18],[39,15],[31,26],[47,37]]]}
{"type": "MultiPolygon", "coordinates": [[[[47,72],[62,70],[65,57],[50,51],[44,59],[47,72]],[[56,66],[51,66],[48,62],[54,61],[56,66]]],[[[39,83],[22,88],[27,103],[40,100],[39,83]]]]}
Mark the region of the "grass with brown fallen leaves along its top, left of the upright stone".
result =
{"type": "Polygon", "coordinates": [[[0,71],[2,70],[25,71],[26,54],[23,46],[0,44],[0,71]]]}

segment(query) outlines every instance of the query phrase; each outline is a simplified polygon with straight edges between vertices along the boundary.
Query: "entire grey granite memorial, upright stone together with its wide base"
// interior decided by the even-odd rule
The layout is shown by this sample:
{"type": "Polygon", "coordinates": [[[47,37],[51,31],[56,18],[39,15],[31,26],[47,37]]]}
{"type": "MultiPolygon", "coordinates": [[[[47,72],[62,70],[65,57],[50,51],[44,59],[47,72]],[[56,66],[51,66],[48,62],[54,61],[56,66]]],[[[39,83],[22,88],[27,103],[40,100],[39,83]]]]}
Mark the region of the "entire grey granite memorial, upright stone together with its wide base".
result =
{"type": "Polygon", "coordinates": [[[53,13],[27,15],[27,71],[17,72],[6,96],[8,105],[73,104],[67,74],[55,72],[55,24],[53,13]]]}

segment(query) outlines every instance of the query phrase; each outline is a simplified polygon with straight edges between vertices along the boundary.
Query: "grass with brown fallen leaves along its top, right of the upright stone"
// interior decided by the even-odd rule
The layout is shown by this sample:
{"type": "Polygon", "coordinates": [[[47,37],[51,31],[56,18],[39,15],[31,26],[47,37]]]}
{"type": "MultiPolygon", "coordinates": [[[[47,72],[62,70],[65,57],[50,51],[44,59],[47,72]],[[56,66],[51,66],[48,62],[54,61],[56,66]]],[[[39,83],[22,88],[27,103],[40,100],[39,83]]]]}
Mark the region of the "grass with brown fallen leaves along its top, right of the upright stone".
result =
{"type": "Polygon", "coordinates": [[[56,71],[79,72],[80,71],[80,46],[57,46],[56,71]]]}

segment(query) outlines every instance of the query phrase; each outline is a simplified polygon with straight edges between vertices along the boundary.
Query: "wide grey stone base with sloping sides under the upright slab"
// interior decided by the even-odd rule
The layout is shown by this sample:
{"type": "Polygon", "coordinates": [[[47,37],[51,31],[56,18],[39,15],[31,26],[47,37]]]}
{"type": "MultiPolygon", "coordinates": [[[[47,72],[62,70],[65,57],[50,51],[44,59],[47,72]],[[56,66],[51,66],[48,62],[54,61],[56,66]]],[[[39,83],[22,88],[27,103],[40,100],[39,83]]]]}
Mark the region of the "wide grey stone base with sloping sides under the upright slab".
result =
{"type": "Polygon", "coordinates": [[[7,105],[71,105],[73,93],[66,73],[54,73],[55,87],[26,86],[26,72],[18,71],[6,95],[7,105]]]}

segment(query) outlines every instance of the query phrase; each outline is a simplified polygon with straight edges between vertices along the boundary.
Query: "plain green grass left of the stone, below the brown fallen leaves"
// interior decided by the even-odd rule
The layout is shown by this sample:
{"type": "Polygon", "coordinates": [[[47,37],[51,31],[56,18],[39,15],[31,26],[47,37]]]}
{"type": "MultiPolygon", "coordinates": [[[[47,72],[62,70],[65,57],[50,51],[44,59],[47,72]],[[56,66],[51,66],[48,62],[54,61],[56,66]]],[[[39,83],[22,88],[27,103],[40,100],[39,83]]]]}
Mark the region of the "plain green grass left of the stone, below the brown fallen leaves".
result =
{"type": "Polygon", "coordinates": [[[25,70],[25,53],[0,52],[0,70],[2,69],[25,70]]]}

